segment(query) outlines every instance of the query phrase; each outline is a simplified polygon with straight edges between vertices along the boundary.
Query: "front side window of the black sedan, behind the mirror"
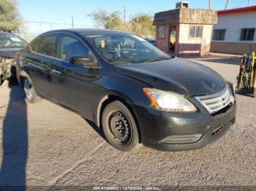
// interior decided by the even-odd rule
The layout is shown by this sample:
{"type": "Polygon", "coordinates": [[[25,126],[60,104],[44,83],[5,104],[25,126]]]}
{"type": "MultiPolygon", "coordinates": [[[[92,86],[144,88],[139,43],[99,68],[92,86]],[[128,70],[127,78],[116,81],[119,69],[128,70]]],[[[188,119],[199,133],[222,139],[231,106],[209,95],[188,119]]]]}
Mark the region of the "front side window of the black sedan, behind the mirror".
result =
{"type": "Polygon", "coordinates": [[[57,50],[57,58],[69,61],[72,57],[89,58],[89,49],[79,39],[73,36],[61,34],[57,50]]]}

